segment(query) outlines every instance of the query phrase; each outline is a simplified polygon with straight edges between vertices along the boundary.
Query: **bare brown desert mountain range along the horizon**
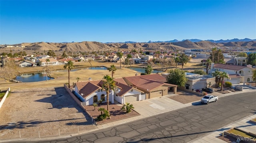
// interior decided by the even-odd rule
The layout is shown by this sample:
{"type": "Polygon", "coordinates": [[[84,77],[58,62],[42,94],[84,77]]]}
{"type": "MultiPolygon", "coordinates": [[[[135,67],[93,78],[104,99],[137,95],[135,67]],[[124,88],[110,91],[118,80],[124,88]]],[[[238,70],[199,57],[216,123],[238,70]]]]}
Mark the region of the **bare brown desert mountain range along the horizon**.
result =
{"type": "MultiPolygon", "coordinates": [[[[16,50],[33,50],[33,51],[117,51],[126,50],[130,51],[136,49],[141,50],[184,50],[184,49],[210,49],[212,47],[248,47],[256,48],[256,39],[231,39],[231,40],[199,40],[199,39],[186,39],[182,41],[148,41],[144,43],[137,43],[132,41],[118,42],[118,43],[100,43],[95,41],[82,41],[82,42],[62,42],[62,43],[49,43],[49,42],[35,42],[35,43],[20,43],[15,44],[16,50]],[[227,42],[222,42],[227,41],[227,42]],[[25,46],[21,47],[21,46],[25,46]]],[[[10,50],[10,47],[0,47],[3,50],[10,50]]]]}

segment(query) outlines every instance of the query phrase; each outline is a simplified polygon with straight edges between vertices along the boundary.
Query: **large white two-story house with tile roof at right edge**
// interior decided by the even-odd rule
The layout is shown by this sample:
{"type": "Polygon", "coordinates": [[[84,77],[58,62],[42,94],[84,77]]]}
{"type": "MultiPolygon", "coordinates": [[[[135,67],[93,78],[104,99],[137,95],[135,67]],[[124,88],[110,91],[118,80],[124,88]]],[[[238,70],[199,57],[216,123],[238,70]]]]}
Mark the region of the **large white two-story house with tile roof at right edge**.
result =
{"type": "Polygon", "coordinates": [[[230,78],[231,80],[224,79],[224,81],[229,81],[232,84],[235,83],[245,83],[245,82],[252,82],[252,70],[253,68],[250,65],[247,66],[238,66],[238,65],[227,65],[227,64],[214,64],[212,63],[209,75],[212,75],[214,71],[221,71],[227,72],[229,75],[232,75],[230,78]],[[239,76],[233,76],[233,75],[239,76]],[[238,78],[240,80],[238,81],[238,78]]]}

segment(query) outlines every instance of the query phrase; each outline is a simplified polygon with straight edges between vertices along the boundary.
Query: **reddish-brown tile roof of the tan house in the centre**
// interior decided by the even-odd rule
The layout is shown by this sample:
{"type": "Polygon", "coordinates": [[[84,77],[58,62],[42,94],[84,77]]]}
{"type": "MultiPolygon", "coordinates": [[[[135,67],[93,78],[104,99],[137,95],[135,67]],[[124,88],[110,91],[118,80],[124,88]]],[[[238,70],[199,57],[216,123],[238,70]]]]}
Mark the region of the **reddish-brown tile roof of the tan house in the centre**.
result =
{"type": "Polygon", "coordinates": [[[148,75],[142,75],[142,76],[130,76],[130,77],[124,77],[124,79],[129,80],[132,82],[132,86],[137,86],[138,88],[144,89],[144,90],[154,90],[155,88],[158,88],[163,85],[170,85],[170,86],[176,86],[174,84],[167,84],[166,78],[159,74],[148,74],[148,75]]]}

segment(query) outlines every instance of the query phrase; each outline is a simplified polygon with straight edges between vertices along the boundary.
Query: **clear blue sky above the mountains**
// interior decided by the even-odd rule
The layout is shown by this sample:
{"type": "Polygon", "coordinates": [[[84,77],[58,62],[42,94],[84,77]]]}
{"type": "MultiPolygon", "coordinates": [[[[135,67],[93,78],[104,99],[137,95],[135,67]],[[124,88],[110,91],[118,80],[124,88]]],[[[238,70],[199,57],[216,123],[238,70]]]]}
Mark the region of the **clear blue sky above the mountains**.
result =
{"type": "Polygon", "coordinates": [[[255,0],[0,0],[0,44],[256,39],[255,0]]]}

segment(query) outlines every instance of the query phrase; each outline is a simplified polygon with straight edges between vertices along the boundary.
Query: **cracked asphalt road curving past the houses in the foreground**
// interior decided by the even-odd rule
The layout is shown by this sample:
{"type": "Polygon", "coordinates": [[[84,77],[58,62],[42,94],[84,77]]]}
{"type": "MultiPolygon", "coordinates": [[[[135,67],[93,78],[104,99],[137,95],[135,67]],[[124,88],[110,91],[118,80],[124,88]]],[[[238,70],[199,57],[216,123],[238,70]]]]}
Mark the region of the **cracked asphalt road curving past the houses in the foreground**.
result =
{"type": "Polygon", "coordinates": [[[208,133],[224,130],[220,128],[246,116],[256,114],[255,103],[256,94],[254,92],[242,93],[220,98],[218,102],[208,105],[193,103],[192,106],[186,108],[68,139],[15,142],[185,143],[208,133]]]}

